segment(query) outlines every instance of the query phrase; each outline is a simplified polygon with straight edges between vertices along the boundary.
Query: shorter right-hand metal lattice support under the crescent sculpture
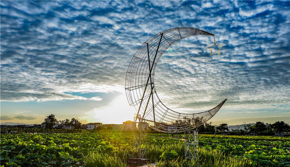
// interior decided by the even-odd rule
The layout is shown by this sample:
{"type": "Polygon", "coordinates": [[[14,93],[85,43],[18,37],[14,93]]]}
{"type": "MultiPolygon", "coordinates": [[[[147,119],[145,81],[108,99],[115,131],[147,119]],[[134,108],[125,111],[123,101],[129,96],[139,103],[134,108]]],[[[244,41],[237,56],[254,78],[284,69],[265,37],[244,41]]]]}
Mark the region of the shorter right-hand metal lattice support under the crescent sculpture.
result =
{"type": "Polygon", "coordinates": [[[184,130],[184,156],[186,159],[198,157],[198,131],[184,130]]]}

